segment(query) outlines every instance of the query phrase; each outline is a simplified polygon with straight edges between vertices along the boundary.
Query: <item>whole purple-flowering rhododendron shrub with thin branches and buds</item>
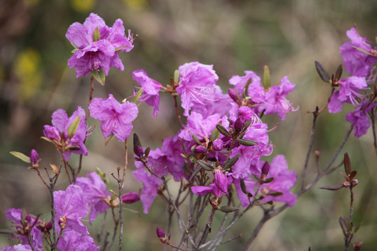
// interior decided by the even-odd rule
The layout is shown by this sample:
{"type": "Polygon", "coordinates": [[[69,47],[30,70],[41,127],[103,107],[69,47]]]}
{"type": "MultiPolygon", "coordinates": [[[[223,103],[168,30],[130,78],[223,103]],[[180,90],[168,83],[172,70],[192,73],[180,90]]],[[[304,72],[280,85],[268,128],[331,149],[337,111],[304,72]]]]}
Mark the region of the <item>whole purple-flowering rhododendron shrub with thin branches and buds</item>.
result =
{"type": "MultiPolygon", "coordinates": [[[[350,76],[341,78],[342,68],[339,66],[330,77],[325,67],[316,62],[320,78],[330,85],[330,89],[328,102],[311,112],[314,117],[313,135],[316,120],[326,107],[330,113],[341,112],[347,104],[354,107],[353,112],[346,114],[346,121],[351,126],[344,142],[352,130],[355,130],[355,137],[367,133],[374,124],[377,106],[377,88],[371,86],[376,79],[376,50],[355,28],[347,35],[351,41],[341,45],[341,56],[350,76]]],[[[129,220],[123,218],[124,204],[131,207],[133,203],[141,203],[143,213],[149,214],[154,211],[154,201],[158,198],[167,204],[167,215],[161,215],[161,219],[165,217],[168,225],[161,227],[168,229],[169,237],[160,227],[156,228],[157,237],[161,243],[177,250],[214,250],[226,242],[226,234],[245,213],[256,207],[263,208],[263,218],[258,227],[251,227],[250,233],[244,233],[249,238],[247,249],[267,220],[295,206],[304,192],[341,165],[346,172],[343,174],[346,181],[322,188],[350,190],[350,216],[341,218],[339,222],[346,239],[346,249],[351,243],[361,248],[362,243],[353,240],[358,228],[355,229],[352,222],[357,172],[351,168],[347,153],[340,165],[333,165],[344,143],[329,164],[318,169],[316,178],[308,181],[307,164],[313,145],[313,137],[310,138],[304,169],[300,174],[299,192],[293,192],[298,174],[290,169],[285,155],[274,151],[289,142],[275,142],[270,132],[279,125],[266,123],[265,116],[278,116],[279,121],[284,123],[290,112],[299,109],[288,98],[295,91],[295,84],[288,76],[274,83],[265,66],[262,76],[245,70],[244,75],[233,75],[224,81],[219,79],[216,65],[195,61],[184,63],[177,70],[172,69],[172,78],[166,86],[149,76],[147,70],[135,69],[132,73],[134,88],[129,93],[117,93],[117,96],[128,94],[130,97],[122,102],[117,101],[112,93],[108,93],[108,98],[95,98],[94,79],[104,84],[111,67],[124,70],[118,54],[133,49],[131,31],[126,36],[121,20],[116,20],[109,27],[101,17],[91,13],[83,24],[72,24],[66,38],[75,47],[68,66],[75,68],[76,77],[92,75],[89,104],[85,109],[77,107],[70,117],[64,109],[58,109],[52,114],[52,126],[44,127],[43,139],[51,143],[50,146],[61,158],[60,163],[50,163],[51,168],[45,169],[47,176],[40,172],[41,159],[35,149],[29,156],[11,152],[29,163],[29,169],[38,174],[47,188],[45,192],[50,195],[51,215],[45,220],[40,218],[41,213],[31,215],[24,209],[8,209],[6,217],[12,221],[10,236],[19,243],[2,250],[110,250],[116,236],[119,239],[118,250],[122,250],[123,231],[128,230],[124,222],[129,220]],[[219,81],[229,82],[227,91],[221,89],[219,81]],[[154,107],[154,116],[166,112],[160,110],[160,95],[172,97],[180,128],[174,135],[163,139],[160,147],[151,149],[148,142],[140,142],[138,134],[143,132],[133,127],[133,121],[138,119],[138,107],[144,102],[154,107]],[[183,109],[182,116],[180,107],[183,109]],[[101,123],[101,126],[96,127],[96,123],[101,123]],[[110,144],[113,137],[124,144],[124,167],[114,167],[110,175],[104,174],[101,169],[81,173],[83,155],[91,158],[86,140],[93,130],[101,130],[105,144],[110,144]],[[135,168],[129,170],[127,151],[131,135],[135,168]],[[78,163],[71,160],[72,153],[80,155],[78,163]],[[125,182],[126,175],[131,174],[140,183],[140,190],[125,182]],[[57,190],[58,179],[68,182],[65,189],[57,190]],[[118,189],[110,190],[109,183],[114,183],[118,189]],[[188,204],[188,210],[182,206],[184,203],[188,204]],[[227,221],[229,214],[233,217],[227,221]],[[104,234],[102,229],[93,238],[96,233],[91,233],[88,225],[92,225],[98,215],[104,215],[103,228],[106,215],[112,215],[112,234],[104,234]],[[177,232],[171,230],[173,215],[177,216],[177,232]],[[207,219],[205,224],[201,218],[207,219]],[[216,218],[223,219],[217,229],[212,227],[216,218]],[[214,233],[211,238],[209,232],[214,233]],[[181,241],[175,243],[178,239],[181,241]]],[[[376,143],[376,138],[374,140],[376,143]]],[[[317,156],[319,158],[319,153],[317,156]]],[[[135,212],[132,208],[128,209],[135,212]]],[[[49,211],[48,208],[46,211],[49,211]]]]}

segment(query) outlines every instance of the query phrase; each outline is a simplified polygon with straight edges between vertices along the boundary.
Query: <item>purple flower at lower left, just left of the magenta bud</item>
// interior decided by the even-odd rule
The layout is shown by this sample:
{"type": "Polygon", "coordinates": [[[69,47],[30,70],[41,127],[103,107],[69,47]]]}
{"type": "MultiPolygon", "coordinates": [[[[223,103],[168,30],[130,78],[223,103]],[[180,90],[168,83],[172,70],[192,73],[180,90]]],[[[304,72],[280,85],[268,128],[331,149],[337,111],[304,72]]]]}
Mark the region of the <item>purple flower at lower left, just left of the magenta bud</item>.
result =
{"type": "Polygon", "coordinates": [[[91,223],[96,220],[98,213],[104,213],[109,208],[104,199],[111,198],[111,194],[101,176],[96,172],[87,174],[87,177],[77,178],[76,185],[82,188],[82,195],[87,204],[91,206],[89,215],[89,222],[91,223]]]}

